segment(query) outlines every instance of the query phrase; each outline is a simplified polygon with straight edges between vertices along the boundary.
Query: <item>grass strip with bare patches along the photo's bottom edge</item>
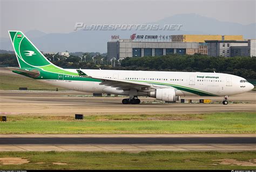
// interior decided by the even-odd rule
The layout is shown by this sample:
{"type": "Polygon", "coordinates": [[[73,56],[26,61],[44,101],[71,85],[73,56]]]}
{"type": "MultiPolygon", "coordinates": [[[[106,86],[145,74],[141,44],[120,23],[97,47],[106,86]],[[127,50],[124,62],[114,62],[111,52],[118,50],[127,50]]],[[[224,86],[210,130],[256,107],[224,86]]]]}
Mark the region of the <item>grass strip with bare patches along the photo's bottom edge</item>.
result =
{"type": "Polygon", "coordinates": [[[248,161],[255,152],[0,152],[0,157],[22,157],[25,164],[1,165],[0,169],[253,169],[220,164],[223,159],[248,161]],[[56,165],[53,163],[66,163],[56,165]]]}

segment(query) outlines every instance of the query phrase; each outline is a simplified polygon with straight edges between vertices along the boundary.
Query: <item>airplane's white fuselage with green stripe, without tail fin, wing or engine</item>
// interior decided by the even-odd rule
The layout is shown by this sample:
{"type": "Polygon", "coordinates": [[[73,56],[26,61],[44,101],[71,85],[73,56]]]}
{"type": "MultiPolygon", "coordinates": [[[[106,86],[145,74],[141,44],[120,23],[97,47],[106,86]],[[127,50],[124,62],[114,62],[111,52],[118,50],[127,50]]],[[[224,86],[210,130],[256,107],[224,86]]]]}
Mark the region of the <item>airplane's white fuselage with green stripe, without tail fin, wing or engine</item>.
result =
{"type": "MultiPolygon", "coordinates": [[[[65,69],[76,72],[76,70],[65,69]]],[[[225,73],[205,72],[163,72],[163,71],[117,71],[83,70],[101,75],[106,79],[121,79],[146,82],[153,86],[166,86],[177,89],[176,95],[224,96],[240,94],[252,90],[252,85],[244,78],[225,73]]],[[[86,80],[69,74],[58,74],[56,79],[40,79],[51,85],[70,90],[129,95],[129,92],[115,87],[100,85],[100,80],[86,80]]],[[[140,94],[144,95],[144,94],[140,94]]]]}

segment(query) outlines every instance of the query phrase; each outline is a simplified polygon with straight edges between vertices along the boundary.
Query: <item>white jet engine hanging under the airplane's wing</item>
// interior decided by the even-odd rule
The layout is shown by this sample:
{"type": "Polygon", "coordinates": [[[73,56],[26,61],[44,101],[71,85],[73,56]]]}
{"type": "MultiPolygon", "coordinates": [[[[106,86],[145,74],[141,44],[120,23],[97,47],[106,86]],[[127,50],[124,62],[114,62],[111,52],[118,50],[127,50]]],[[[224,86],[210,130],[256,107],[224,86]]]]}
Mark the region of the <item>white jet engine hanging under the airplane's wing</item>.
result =
{"type": "Polygon", "coordinates": [[[173,88],[159,88],[156,91],[150,92],[149,96],[154,97],[158,100],[169,102],[179,100],[179,96],[176,96],[176,90],[174,90],[173,88]]]}

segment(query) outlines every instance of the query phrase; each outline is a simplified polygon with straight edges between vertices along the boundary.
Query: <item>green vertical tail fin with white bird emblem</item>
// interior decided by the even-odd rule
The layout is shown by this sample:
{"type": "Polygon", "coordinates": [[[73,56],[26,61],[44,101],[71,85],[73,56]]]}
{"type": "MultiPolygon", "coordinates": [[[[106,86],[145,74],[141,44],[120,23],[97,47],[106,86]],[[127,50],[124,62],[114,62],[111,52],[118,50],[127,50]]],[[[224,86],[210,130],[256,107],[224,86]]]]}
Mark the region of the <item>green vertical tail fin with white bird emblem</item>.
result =
{"type": "Polygon", "coordinates": [[[9,31],[12,45],[21,68],[35,68],[52,64],[21,31],[9,31]]]}

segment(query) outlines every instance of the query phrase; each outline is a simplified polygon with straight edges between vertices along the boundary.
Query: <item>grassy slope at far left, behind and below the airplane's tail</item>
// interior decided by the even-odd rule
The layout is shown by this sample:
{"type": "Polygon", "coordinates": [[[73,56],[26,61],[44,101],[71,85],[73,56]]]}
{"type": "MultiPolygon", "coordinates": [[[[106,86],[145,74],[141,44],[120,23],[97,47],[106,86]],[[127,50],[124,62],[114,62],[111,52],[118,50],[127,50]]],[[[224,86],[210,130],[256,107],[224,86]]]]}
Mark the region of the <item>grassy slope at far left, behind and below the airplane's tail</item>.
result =
{"type": "Polygon", "coordinates": [[[19,74],[0,73],[0,90],[18,90],[19,87],[28,87],[28,90],[56,90],[55,86],[19,74]]]}

